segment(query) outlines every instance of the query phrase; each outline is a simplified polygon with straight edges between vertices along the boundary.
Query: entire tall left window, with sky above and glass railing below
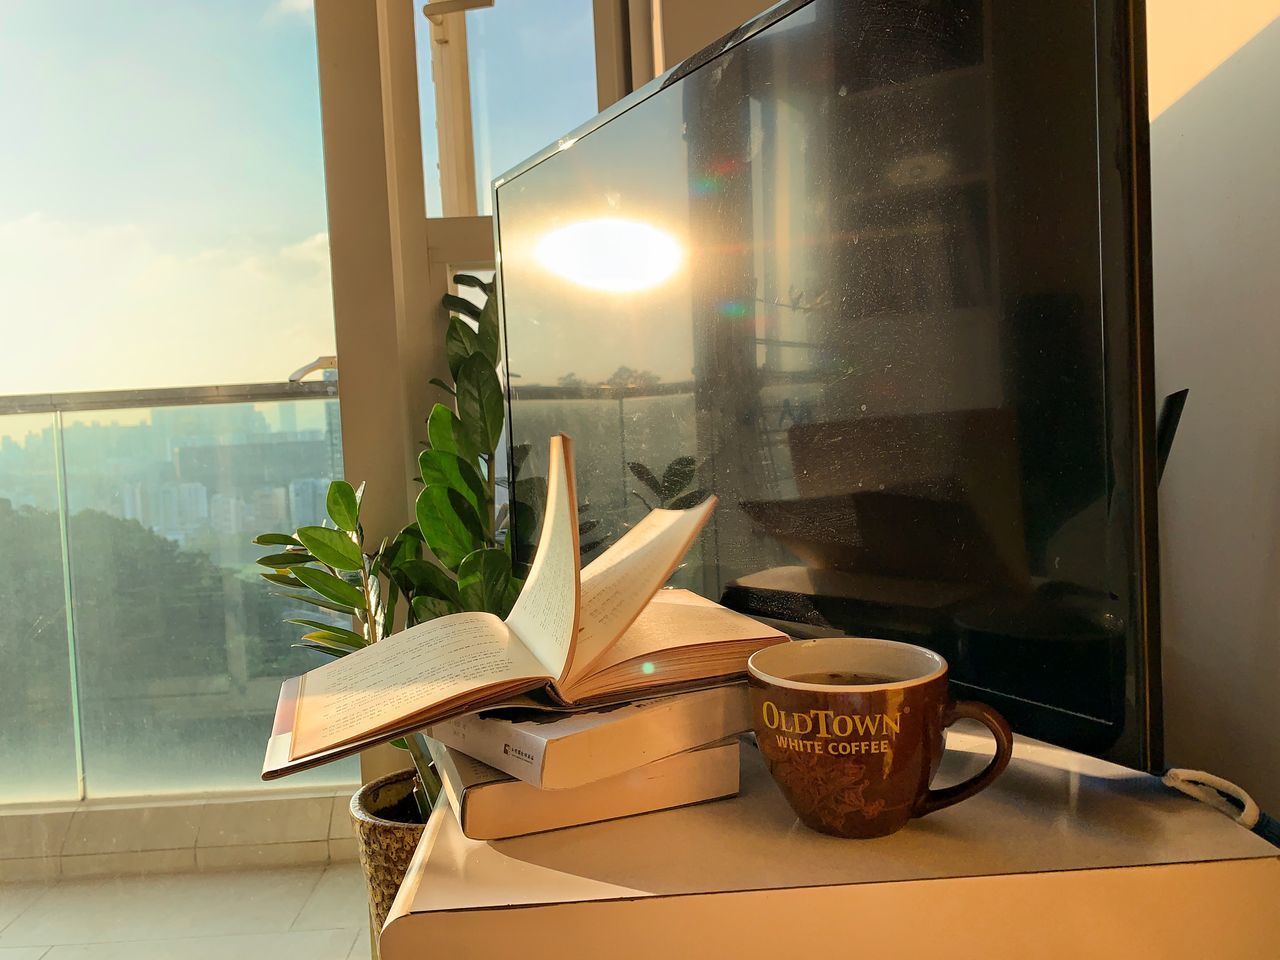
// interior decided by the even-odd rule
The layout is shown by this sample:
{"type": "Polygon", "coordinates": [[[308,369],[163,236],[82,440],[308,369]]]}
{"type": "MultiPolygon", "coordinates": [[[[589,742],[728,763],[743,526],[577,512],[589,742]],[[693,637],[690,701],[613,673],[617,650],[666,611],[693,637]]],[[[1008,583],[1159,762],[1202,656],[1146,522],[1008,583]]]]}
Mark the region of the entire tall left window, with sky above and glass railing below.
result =
{"type": "Polygon", "coordinates": [[[284,383],[334,352],[311,4],[10,4],[0,125],[0,804],[261,786],[319,660],[248,541],[340,471],[284,383]]]}

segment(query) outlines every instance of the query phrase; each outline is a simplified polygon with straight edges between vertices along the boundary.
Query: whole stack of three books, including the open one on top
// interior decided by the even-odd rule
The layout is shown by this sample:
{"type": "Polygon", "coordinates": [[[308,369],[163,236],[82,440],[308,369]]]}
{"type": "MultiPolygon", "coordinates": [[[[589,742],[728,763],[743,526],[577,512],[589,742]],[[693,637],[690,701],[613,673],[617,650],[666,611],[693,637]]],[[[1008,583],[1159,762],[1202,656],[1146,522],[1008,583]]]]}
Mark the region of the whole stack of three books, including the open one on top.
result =
{"type": "Polygon", "coordinates": [[[439,617],[287,681],[264,780],[428,731],[470,837],[737,792],[746,660],[787,637],[660,589],[714,498],[652,511],[581,568],[568,438],[552,440],[547,484],[538,553],[507,617],[439,617]]]}

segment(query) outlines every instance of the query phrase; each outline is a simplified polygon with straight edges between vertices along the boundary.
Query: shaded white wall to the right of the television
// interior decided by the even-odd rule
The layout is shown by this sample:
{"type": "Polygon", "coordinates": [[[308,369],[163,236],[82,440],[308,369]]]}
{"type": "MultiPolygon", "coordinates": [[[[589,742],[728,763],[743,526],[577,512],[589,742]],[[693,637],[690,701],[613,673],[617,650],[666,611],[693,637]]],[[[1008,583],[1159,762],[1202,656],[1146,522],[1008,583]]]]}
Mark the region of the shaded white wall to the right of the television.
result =
{"type": "MultiPolygon", "coordinates": [[[[1197,61],[1160,8],[1153,82],[1197,61]]],[[[1190,388],[1160,492],[1166,759],[1280,813],[1280,20],[1184,86],[1151,127],[1157,390],[1190,388]]]]}

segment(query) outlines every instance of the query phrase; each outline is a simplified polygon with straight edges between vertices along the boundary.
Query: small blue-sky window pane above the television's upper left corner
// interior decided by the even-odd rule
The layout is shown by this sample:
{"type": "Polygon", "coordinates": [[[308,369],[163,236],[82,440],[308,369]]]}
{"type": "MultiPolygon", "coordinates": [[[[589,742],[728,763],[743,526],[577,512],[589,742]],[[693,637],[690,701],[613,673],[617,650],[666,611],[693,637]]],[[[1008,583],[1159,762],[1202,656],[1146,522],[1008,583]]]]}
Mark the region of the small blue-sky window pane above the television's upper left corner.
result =
{"type": "Polygon", "coordinates": [[[467,13],[476,206],[490,183],[596,113],[591,0],[503,0],[467,13]]]}

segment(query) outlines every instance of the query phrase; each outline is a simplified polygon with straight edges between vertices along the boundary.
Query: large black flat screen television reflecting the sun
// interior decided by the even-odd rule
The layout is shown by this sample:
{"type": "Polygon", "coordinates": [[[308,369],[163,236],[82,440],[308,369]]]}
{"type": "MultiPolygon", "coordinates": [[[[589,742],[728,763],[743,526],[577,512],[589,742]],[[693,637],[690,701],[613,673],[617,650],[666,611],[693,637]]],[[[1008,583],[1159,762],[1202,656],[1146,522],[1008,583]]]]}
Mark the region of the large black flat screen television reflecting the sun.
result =
{"type": "Polygon", "coordinates": [[[1142,36],[795,0],[499,178],[513,489],[573,436],[588,558],[713,492],[681,585],[1158,768],[1142,36]]]}

